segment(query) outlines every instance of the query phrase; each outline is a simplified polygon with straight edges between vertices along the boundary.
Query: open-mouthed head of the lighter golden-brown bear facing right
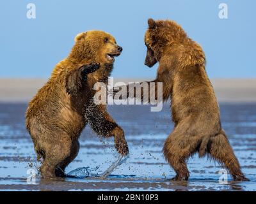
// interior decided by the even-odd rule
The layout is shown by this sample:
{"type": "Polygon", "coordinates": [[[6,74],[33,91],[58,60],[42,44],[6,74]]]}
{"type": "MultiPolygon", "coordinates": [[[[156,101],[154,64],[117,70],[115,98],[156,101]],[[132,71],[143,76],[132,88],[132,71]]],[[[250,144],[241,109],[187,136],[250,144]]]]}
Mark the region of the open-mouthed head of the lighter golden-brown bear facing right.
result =
{"type": "Polygon", "coordinates": [[[79,62],[85,60],[100,64],[113,64],[115,57],[122,52],[122,47],[116,45],[115,38],[104,31],[79,33],[75,42],[70,57],[79,62]]]}

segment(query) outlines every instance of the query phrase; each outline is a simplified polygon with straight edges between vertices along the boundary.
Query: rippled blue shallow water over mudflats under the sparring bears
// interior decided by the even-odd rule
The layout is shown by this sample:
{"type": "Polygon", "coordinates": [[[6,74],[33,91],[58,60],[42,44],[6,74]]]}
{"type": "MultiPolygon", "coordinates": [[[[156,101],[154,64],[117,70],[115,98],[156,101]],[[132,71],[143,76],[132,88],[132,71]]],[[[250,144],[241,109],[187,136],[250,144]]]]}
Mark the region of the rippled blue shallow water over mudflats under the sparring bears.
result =
{"type": "Polygon", "coordinates": [[[99,138],[89,127],[80,138],[76,159],[67,167],[65,180],[45,180],[37,173],[33,143],[24,127],[26,104],[0,104],[0,191],[256,191],[256,104],[222,104],[221,119],[235,154],[249,182],[220,184],[221,166],[197,155],[189,159],[188,182],[172,182],[174,171],[161,149],[173,129],[170,108],[150,112],[150,107],[109,106],[109,112],[125,131],[130,155],[109,177],[100,179],[118,159],[113,138],[99,138]]]}

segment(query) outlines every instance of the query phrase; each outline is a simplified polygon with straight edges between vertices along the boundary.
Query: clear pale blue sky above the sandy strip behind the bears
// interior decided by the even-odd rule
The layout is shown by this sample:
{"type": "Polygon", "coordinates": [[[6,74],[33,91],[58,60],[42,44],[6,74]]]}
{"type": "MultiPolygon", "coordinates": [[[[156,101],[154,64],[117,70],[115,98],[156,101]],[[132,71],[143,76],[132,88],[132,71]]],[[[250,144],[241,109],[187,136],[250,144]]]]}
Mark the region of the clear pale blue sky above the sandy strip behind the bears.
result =
{"type": "Polygon", "coordinates": [[[97,29],[115,36],[124,48],[116,58],[113,77],[154,77],[144,65],[143,37],[147,19],[177,21],[204,48],[211,78],[256,77],[256,1],[46,1],[3,0],[0,3],[0,77],[49,77],[67,57],[74,36],[97,29]],[[36,19],[26,18],[35,3],[36,19]],[[218,17],[220,3],[228,19],[218,17]]]}

